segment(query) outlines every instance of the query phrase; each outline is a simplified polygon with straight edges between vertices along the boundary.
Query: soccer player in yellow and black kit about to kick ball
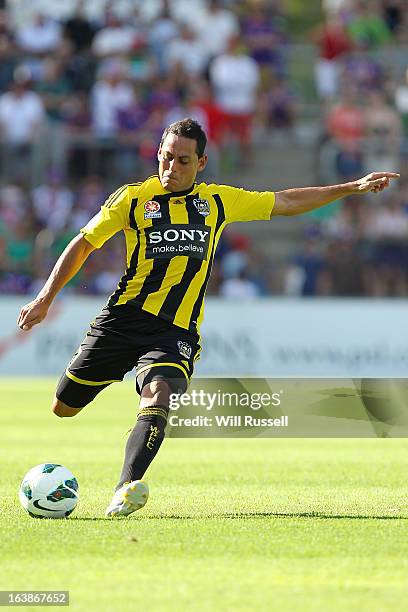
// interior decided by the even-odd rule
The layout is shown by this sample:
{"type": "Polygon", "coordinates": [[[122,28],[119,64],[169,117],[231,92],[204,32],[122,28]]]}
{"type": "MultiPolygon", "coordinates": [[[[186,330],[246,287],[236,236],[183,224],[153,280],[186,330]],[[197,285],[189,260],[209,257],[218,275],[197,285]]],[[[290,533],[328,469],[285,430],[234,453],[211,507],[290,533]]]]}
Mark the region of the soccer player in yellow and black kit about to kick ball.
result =
{"type": "Polygon", "coordinates": [[[159,146],[158,175],[124,185],[106,200],[18,317],[23,330],[40,323],[89,254],[124,231],[125,273],[90,324],[52,404],[57,416],[75,416],[102,389],[136,368],[140,405],[107,516],[128,515],[147,501],[148,487],[141,479],[164,438],[170,394],[187,389],[201,351],[203,299],[224,227],[233,221],[298,215],[337,198],[382,191],[399,176],[374,172],[329,187],[246,191],[196,182],[207,163],[205,147],[206,136],[197,122],[171,124],[159,146]]]}

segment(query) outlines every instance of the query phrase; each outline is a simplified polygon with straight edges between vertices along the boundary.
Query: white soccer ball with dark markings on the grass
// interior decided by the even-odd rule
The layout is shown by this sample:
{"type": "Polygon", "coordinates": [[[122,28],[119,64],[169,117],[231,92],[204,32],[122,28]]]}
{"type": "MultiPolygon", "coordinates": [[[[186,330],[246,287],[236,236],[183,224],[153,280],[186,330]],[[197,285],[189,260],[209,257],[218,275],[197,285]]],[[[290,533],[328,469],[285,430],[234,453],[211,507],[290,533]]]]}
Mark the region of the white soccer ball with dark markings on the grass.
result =
{"type": "Polygon", "coordinates": [[[63,465],[41,463],[24,476],[19,498],[30,516],[64,518],[78,503],[78,482],[63,465]]]}

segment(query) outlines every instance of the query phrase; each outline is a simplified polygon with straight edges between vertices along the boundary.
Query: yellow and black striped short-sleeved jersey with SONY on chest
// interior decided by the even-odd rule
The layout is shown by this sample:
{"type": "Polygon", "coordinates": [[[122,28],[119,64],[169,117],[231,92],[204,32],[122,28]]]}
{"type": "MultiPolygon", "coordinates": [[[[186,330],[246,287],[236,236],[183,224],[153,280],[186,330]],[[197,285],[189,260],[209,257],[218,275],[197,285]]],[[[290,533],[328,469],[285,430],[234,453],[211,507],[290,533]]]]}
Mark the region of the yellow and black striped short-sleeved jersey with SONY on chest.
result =
{"type": "Polygon", "coordinates": [[[275,194],[195,183],[166,191],[158,176],[120,187],[81,229],[94,247],[126,237],[126,270],[108,305],[142,308],[198,330],[215,249],[227,223],[270,219],[275,194]]]}

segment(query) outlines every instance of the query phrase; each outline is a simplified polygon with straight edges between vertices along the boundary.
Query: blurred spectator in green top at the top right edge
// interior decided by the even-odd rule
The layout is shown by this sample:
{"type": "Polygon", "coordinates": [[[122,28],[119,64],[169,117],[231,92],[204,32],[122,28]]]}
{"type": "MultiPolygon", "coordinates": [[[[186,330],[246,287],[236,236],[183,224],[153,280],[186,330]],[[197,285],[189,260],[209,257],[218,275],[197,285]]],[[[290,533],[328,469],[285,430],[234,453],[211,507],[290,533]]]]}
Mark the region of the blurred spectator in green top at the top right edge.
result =
{"type": "Polygon", "coordinates": [[[391,32],[376,8],[368,0],[356,0],[348,33],[362,49],[374,49],[391,40],[391,32]]]}

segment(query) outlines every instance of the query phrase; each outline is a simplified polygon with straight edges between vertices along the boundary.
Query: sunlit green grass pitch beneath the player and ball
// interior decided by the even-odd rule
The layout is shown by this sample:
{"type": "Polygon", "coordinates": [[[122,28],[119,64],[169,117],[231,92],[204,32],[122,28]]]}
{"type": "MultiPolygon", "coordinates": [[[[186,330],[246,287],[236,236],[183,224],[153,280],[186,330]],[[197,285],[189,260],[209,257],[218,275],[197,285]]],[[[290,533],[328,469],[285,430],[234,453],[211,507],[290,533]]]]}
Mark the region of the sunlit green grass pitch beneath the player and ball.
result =
{"type": "Polygon", "coordinates": [[[50,413],[54,386],[0,379],[0,589],[69,590],[87,611],[404,607],[408,440],[169,439],[148,505],[110,520],[133,384],[74,419],[50,413]],[[67,520],[20,507],[43,462],[79,480],[67,520]]]}

